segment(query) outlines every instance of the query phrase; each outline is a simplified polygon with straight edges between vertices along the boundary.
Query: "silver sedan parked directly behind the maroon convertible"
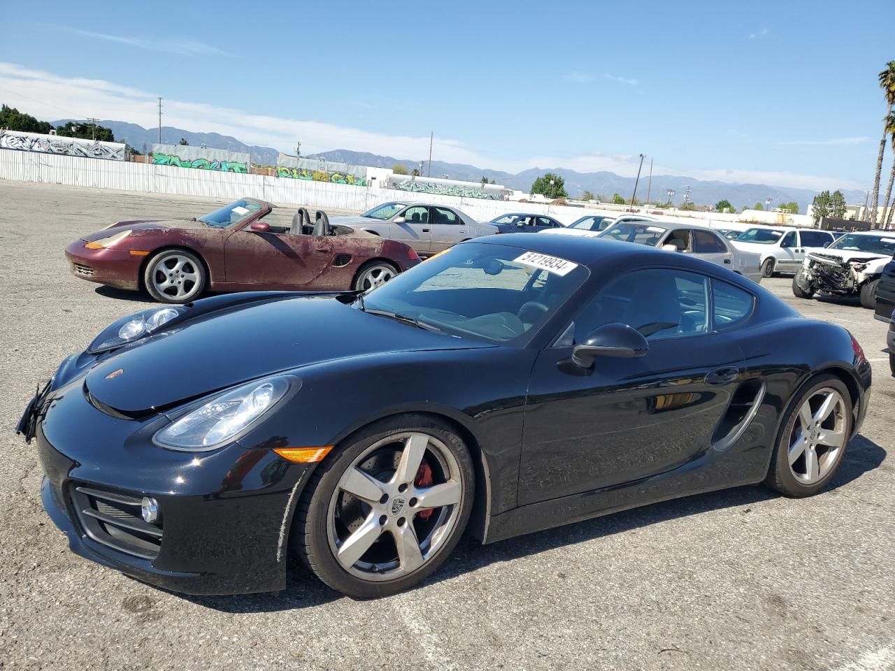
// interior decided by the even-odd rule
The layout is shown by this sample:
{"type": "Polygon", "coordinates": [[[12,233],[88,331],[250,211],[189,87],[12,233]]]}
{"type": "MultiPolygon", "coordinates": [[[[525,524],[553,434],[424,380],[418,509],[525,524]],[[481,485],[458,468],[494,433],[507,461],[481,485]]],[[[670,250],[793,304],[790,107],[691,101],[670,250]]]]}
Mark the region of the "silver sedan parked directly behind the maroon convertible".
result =
{"type": "Polygon", "coordinates": [[[497,226],[480,224],[456,208],[427,203],[388,202],[357,217],[332,217],[331,221],[404,242],[423,257],[457,242],[498,233],[497,226]]]}

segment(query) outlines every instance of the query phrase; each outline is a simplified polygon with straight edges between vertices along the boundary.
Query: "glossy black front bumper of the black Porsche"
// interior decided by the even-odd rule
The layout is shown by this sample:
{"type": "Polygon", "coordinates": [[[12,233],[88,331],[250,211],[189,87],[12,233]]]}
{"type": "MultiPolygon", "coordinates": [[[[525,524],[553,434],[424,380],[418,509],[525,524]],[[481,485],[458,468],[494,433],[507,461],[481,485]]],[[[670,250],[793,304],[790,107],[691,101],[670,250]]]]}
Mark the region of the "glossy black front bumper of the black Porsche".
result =
{"type": "Polygon", "coordinates": [[[55,390],[47,404],[35,434],[43,503],[73,552],[189,594],[285,588],[289,529],[310,466],[238,443],[199,454],[154,446],[146,437],[158,430],[158,417],[141,422],[100,412],[81,379],[55,390]],[[156,498],[158,550],[139,556],[96,533],[76,488],[156,498]]]}

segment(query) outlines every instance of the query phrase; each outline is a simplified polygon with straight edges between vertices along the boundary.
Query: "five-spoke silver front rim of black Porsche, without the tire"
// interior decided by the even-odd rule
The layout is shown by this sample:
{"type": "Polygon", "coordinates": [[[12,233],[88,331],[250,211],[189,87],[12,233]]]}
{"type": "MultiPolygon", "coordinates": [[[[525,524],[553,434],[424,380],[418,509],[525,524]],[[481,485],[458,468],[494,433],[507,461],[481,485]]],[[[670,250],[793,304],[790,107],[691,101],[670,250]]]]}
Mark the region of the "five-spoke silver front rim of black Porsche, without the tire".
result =
{"type": "Polygon", "coordinates": [[[413,573],[454,530],[464,482],[456,457],[438,438],[404,432],[379,440],[345,470],[329,501],[329,549],[366,581],[413,573]]]}

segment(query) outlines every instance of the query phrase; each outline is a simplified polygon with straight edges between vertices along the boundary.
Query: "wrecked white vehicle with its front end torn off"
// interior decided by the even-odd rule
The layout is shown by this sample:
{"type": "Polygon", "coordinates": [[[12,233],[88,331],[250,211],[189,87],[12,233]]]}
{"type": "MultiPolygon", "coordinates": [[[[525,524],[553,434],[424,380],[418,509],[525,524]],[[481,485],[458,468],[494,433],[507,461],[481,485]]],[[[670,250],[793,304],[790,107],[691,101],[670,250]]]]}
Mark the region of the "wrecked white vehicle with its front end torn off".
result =
{"type": "Polygon", "coordinates": [[[874,310],[882,270],[895,251],[895,233],[857,231],[841,236],[825,250],[809,251],[792,280],[797,298],[814,293],[858,296],[861,305],[874,310]]]}

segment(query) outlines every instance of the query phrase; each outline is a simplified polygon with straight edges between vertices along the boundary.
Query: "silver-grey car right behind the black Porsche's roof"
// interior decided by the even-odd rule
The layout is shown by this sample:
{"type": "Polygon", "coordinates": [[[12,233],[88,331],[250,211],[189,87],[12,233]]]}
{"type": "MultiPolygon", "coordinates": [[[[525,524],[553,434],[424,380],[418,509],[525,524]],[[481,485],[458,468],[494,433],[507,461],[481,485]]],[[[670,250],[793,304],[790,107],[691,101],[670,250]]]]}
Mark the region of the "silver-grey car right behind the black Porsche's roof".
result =
{"type": "Polygon", "coordinates": [[[748,277],[755,283],[762,281],[758,255],[737,250],[711,228],[668,221],[623,221],[593,235],[601,240],[635,242],[665,251],[692,254],[748,277]]]}

